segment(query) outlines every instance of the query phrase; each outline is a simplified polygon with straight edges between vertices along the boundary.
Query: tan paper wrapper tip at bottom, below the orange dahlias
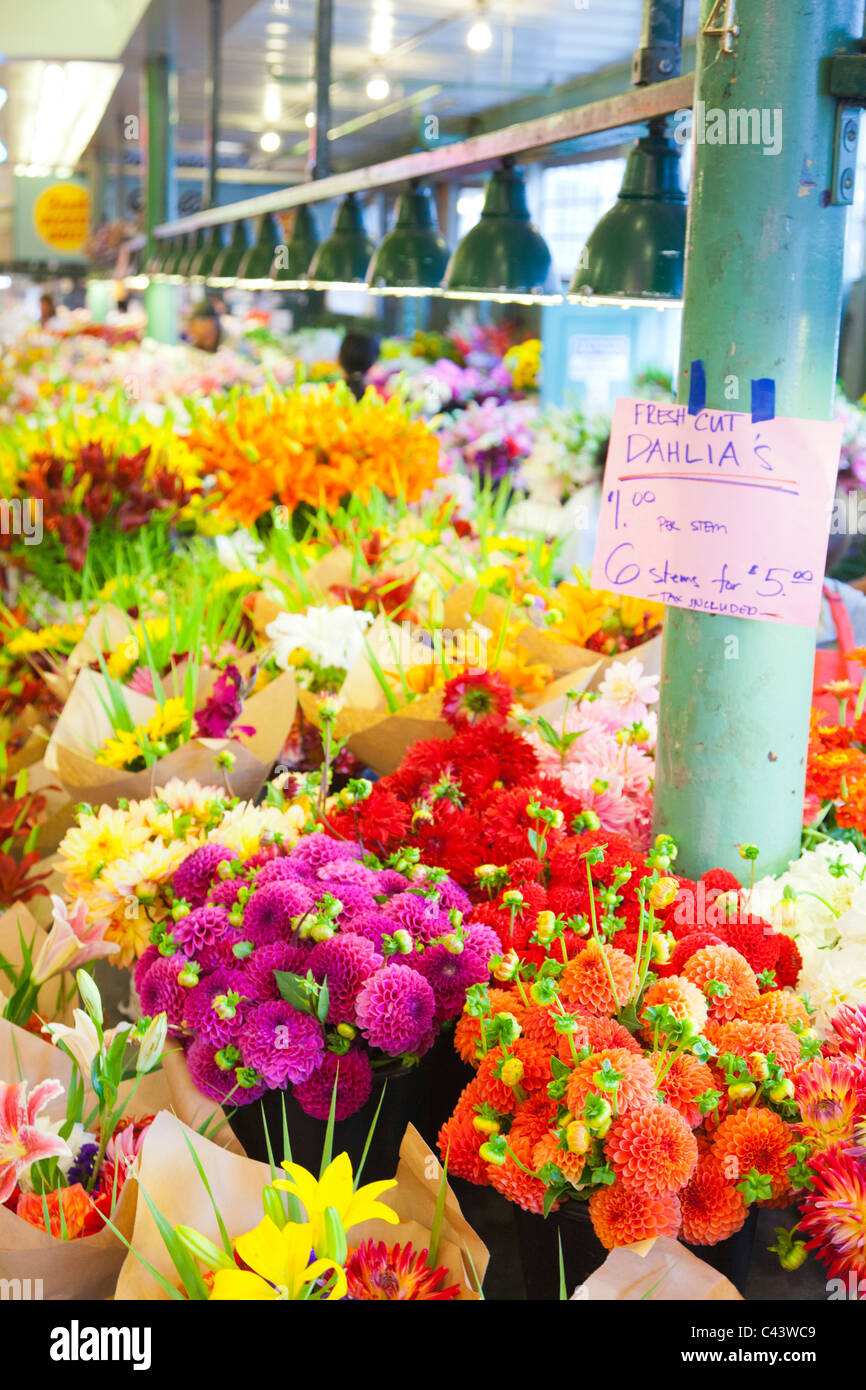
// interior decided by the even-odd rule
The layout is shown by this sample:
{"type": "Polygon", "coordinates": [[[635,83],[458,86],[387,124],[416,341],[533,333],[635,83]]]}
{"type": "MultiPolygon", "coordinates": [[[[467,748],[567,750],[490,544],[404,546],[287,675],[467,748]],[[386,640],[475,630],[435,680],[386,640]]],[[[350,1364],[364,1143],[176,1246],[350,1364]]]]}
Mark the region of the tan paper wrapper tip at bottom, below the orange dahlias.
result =
{"type": "Polygon", "coordinates": [[[659,1236],[639,1247],[612,1250],[573,1301],[588,1302],[742,1302],[730,1279],[677,1240],[659,1236]],[[649,1248],[646,1250],[646,1245],[649,1248]]]}

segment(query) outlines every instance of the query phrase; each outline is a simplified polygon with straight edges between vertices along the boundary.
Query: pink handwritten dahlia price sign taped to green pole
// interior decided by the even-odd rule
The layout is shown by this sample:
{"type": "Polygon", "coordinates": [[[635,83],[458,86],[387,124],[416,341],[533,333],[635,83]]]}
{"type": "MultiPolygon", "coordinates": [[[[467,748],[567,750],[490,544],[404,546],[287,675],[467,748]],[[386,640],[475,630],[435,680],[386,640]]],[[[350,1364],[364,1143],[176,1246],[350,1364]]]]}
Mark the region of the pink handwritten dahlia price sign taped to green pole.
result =
{"type": "Polygon", "coordinates": [[[617,400],[594,585],[813,627],[841,441],[837,421],[617,400]]]}

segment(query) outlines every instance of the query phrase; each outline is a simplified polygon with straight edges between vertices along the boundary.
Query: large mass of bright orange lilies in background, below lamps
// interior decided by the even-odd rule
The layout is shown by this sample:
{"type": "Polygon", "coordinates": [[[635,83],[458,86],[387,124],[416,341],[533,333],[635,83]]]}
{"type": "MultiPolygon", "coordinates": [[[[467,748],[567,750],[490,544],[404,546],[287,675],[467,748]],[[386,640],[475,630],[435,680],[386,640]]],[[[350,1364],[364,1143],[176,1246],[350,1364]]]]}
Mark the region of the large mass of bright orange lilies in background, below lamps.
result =
{"type": "Polygon", "coordinates": [[[189,445],[217,477],[218,512],[243,525],[274,506],[335,509],[374,489],[414,502],[439,457],[435,436],[399,400],[367,392],[356,402],[343,386],[232,400],[199,416],[189,445]]]}

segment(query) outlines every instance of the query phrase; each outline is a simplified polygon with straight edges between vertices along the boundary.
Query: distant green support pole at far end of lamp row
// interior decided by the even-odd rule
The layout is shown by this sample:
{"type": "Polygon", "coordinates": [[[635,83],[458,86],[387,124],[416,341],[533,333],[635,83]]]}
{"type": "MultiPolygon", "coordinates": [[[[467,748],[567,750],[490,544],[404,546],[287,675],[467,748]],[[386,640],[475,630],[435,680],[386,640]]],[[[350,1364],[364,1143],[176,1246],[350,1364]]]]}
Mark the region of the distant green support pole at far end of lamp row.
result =
{"type": "MultiPolygon", "coordinates": [[[[145,68],[145,142],[147,182],[145,185],[145,263],[154,246],[153,228],[177,217],[174,152],[174,101],[171,63],[164,54],[147,58],[145,68]]],[[[147,332],[157,342],[172,343],[178,336],[178,291],[175,285],[149,285],[145,292],[147,332]]]]}

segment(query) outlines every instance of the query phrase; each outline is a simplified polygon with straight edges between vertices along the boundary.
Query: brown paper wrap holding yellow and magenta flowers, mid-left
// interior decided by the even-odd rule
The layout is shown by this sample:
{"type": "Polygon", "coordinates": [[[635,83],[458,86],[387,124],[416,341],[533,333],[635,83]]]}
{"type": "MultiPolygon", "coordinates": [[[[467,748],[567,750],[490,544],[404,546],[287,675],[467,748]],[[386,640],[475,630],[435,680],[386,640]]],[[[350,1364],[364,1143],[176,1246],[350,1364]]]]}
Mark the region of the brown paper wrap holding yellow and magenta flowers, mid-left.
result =
{"type": "MultiPolygon", "coordinates": [[[[108,806],[115,806],[121,796],[131,801],[150,796],[154,787],[163,787],[172,777],[222,785],[229,795],[256,796],[292,727],[296,708],[295,674],[285,671],[245,702],[242,723],[256,730],[253,735],[192,738],[160,758],[153,767],[129,773],[96,762],[95,751],[113,734],[100,701],[106,689],[99,673],[79,671],[49,741],[44,762],[75,801],[108,806]],[[227,749],[235,756],[231,771],[217,763],[218,755],[227,749]]],[[[126,692],[126,703],[136,721],[150,719],[157,708],[154,699],[136,691],[126,692]]]]}

